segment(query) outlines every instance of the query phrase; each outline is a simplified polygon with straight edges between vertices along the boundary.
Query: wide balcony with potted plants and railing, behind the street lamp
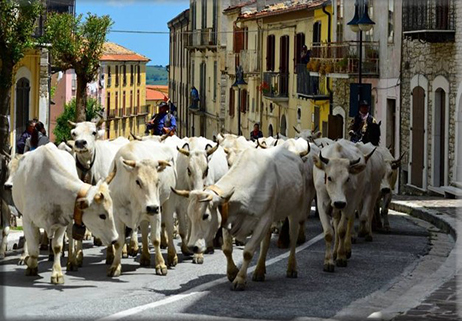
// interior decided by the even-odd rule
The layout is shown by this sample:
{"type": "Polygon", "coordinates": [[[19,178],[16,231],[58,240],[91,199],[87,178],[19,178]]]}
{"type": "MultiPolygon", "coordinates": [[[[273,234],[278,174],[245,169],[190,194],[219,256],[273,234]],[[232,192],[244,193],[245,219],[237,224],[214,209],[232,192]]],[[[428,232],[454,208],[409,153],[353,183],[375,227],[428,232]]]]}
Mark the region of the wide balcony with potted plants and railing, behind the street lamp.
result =
{"type": "MultiPolygon", "coordinates": [[[[333,74],[356,76],[359,71],[358,48],[359,41],[314,44],[307,68],[319,74],[330,74],[331,77],[336,77],[333,74]]],[[[379,49],[378,41],[363,41],[363,76],[379,76],[379,49]]]]}

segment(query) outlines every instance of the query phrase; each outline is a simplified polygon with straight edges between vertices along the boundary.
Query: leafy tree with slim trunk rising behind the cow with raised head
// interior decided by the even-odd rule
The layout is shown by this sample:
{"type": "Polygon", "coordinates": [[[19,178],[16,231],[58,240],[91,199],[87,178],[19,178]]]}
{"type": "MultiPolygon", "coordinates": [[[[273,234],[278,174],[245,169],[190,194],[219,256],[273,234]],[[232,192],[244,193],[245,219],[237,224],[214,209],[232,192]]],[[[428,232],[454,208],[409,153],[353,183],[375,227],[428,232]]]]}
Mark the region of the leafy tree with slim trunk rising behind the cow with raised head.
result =
{"type": "Polygon", "coordinates": [[[58,69],[74,69],[77,75],[74,120],[85,121],[87,84],[98,75],[103,45],[112,20],[88,13],[82,15],[51,13],[45,23],[44,41],[51,44],[53,65],[58,69]]]}

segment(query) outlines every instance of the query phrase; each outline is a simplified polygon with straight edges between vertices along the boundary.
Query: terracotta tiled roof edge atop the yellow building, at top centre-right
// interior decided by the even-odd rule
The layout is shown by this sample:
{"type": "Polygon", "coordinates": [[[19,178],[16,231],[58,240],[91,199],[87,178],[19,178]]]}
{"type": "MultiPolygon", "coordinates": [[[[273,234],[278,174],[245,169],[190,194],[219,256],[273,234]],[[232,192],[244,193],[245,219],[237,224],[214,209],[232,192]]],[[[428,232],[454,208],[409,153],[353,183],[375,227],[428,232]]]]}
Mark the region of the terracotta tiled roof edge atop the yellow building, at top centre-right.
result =
{"type": "Polygon", "coordinates": [[[294,11],[306,10],[306,9],[315,9],[322,6],[323,3],[327,2],[326,0],[289,0],[285,2],[278,2],[272,5],[265,6],[264,9],[260,11],[247,11],[240,15],[243,19],[255,19],[262,17],[275,16],[280,14],[285,14],[294,11]]]}

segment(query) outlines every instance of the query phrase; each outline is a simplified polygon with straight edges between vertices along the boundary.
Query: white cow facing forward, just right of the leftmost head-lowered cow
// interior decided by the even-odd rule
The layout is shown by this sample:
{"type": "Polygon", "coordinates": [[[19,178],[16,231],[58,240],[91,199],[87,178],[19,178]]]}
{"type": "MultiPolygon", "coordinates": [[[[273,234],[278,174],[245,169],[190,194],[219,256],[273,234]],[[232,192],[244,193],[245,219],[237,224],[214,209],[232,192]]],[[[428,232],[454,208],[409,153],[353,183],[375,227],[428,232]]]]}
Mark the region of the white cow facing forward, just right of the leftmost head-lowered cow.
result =
{"type": "MultiPolygon", "coordinates": [[[[117,152],[109,187],[114,199],[119,240],[115,244],[116,252],[108,269],[108,276],[119,276],[122,272],[121,256],[126,226],[133,230],[141,226],[143,251],[140,264],[150,265],[148,224],[141,224],[142,222],[151,224],[156,273],[167,274],[167,266],[160,250],[161,209],[166,206],[170,188],[176,185],[175,153],[176,150],[171,146],[150,140],[132,141],[117,152]]],[[[166,225],[167,232],[172,235],[173,231],[169,227],[173,227],[173,222],[168,221],[166,225]]],[[[172,251],[174,247],[169,246],[168,259],[176,263],[178,259],[172,251]]]]}

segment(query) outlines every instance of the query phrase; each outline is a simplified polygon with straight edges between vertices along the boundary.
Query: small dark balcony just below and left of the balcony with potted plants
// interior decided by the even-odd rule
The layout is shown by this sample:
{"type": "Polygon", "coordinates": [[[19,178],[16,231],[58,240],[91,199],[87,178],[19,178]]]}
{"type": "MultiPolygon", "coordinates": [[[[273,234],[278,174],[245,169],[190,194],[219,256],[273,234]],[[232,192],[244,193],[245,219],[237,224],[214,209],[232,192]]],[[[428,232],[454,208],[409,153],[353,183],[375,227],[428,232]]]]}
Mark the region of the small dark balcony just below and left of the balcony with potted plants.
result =
{"type": "Polygon", "coordinates": [[[320,82],[319,76],[311,76],[305,64],[297,65],[297,95],[312,100],[329,99],[325,81],[320,82]]]}

